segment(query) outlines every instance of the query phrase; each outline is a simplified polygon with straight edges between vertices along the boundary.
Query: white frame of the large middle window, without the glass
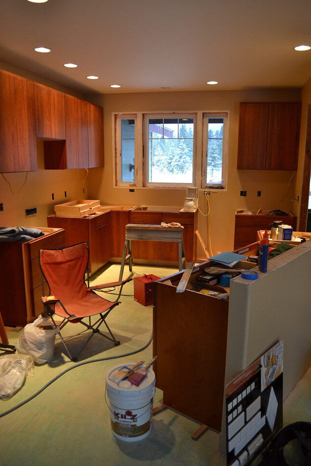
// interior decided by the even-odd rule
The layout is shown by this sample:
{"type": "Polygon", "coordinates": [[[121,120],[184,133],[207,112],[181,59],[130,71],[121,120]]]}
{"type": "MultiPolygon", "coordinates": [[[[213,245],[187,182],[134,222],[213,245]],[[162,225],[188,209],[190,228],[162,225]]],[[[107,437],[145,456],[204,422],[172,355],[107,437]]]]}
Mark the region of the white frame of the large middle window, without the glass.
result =
{"type": "Polygon", "coordinates": [[[183,188],[195,186],[196,180],[196,143],[197,143],[197,112],[161,112],[143,114],[143,186],[149,188],[183,188]],[[147,120],[150,118],[193,118],[193,152],[192,152],[192,182],[191,183],[155,183],[148,181],[149,174],[149,135],[147,134],[147,120]]]}

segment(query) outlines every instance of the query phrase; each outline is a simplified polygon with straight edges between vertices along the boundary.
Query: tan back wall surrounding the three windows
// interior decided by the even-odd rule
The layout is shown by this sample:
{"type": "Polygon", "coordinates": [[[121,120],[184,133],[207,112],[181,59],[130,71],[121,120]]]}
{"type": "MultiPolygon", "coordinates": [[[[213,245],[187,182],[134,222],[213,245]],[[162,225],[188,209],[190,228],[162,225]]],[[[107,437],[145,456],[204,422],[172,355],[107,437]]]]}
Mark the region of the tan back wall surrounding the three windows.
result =
{"type": "MultiPolygon", "coordinates": [[[[90,97],[90,96],[88,96],[90,97]]],[[[113,185],[112,112],[130,111],[224,111],[230,113],[229,165],[226,192],[210,196],[210,225],[212,250],[232,250],[234,216],[236,208],[265,210],[293,209],[295,176],[288,185],[293,172],[265,170],[237,170],[238,117],[240,101],[296,101],[300,100],[299,89],[272,89],[252,91],[201,91],[201,92],[155,92],[103,95],[96,103],[104,106],[105,168],[90,170],[89,196],[103,203],[137,203],[149,205],[183,205],[184,189],[135,189],[113,185]],[[247,190],[247,197],[240,197],[240,190],[247,190]],[[261,197],[257,197],[257,191],[261,197]],[[282,198],[284,197],[284,200],[282,198]]],[[[199,207],[204,211],[203,192],[199,195],[199,207]]],[[[199,214],[199,231],[207,244],[206,217],[199,214]]],[[[198,248],[198,257],[203,251],[198,248]]]]}

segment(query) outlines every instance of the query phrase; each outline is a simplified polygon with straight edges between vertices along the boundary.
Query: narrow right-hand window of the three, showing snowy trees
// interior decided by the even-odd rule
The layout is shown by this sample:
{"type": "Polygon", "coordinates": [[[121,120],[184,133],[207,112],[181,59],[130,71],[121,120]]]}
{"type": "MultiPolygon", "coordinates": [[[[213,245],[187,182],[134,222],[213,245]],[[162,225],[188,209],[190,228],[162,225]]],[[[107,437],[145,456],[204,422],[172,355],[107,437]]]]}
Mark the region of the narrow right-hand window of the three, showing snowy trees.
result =
{"type": "Polygon", "coordinates": [[[202,187],[226,187],[227,120],[227,114],[203,115],[202,187]]]}

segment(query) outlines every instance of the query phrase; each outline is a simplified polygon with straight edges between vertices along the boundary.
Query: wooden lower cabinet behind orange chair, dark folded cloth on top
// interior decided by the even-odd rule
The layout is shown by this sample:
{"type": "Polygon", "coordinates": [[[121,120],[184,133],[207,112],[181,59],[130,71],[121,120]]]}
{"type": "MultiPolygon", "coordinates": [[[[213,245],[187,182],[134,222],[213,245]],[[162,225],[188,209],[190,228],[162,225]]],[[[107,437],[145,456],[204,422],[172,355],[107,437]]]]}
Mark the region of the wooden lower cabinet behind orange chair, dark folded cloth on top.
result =
{"type": "Polygon", "coordinates": [[[0,243],[0,311],[5,325],[24,326],[43,311],[39,250],[65,246],[65,232],[39,229],[45,235],[26,243],[0,243]]]}

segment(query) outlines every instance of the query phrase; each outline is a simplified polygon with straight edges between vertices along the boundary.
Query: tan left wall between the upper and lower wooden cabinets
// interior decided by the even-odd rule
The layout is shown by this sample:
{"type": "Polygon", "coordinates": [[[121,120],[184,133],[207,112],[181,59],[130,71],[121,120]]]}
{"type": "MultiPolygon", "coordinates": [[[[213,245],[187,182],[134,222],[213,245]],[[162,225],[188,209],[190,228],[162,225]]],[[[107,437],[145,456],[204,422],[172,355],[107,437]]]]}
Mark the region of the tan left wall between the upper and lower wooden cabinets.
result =
{"type": "MultiPolygon", "coordinates": [[[[47,216],[54,213],[54,204],[74,199],[87,199],[82,183],[86,170],[44,170],[43,142],[37,141],[38,170],[28,173],[27,182],[18,196],[14,196],[9,185],[0,176],[0,226],[47,226],[47,216]],[[65,198],[67,191],[67,198],[65,198]],[[54,200],[52,200],[54,193],[54,200]],[[26,217],[25,209],[37,208],[36,216],[26,217]]],[[[24,183],[26,173],[5,173],[4,176],[17,193],[24,183]]],[[[87,186],[87,184],[86,184],[87,186]]]]}

